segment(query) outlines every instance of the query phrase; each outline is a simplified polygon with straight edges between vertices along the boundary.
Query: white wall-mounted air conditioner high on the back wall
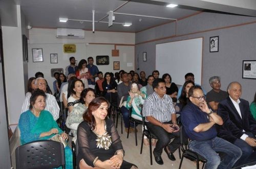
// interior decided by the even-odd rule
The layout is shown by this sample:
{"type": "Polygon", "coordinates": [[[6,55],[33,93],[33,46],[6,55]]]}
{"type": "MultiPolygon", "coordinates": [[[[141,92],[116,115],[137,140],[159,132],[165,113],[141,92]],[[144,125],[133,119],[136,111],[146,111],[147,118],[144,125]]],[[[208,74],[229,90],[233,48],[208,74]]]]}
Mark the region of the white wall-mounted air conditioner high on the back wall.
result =
{"type": "Polygon", "coordinates": [[[84,39],[84,31],[81,29],[57,29],[56,38],[84,39]]]}

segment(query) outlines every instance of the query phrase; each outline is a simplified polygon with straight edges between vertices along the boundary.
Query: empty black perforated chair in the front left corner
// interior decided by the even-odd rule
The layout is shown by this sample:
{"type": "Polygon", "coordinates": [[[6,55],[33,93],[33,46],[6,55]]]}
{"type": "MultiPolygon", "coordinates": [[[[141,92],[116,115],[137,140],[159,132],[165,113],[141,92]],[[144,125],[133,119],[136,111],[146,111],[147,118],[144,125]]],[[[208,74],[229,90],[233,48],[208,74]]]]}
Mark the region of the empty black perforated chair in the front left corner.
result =
{"type": "Polygon", "coordinates": [[[36,140],[16,148],[17,169],[44,169],[62,166],[65,169],[65,151],[61,142],[36,140]]]}

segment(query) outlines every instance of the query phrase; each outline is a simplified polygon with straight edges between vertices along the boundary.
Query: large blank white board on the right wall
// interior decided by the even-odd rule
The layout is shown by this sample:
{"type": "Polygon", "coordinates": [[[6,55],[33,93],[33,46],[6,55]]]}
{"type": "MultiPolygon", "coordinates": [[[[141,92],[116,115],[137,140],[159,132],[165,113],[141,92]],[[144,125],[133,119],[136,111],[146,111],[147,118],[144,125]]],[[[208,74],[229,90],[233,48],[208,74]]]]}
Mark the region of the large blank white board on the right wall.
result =
{"type": "Polygon", "coordinates": [[[201,85],[203,38],[156,44],[156,70],[160,78],[168,73],[172,82],[183,85],[184,76],[191,72],[201,85]]]}

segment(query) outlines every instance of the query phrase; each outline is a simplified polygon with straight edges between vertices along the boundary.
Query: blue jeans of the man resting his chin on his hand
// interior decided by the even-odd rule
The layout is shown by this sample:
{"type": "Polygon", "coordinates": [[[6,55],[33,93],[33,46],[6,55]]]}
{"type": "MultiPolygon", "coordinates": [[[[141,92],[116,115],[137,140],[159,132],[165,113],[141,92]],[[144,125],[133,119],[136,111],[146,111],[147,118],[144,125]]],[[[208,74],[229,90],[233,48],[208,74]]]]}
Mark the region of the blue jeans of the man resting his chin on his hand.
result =
{"type": "Polygon", "coordinates": [[[234,144],[215,137],[210,140],[205,141],[190,141],[188,143],[188,148],[201,156],[203,156],[207,162],[205,164],[205,169],[228,169],[232,168],[234,163],[241,157],[242,151],[234,144]],[[216,152],[223,152],[225,156],[223,159],[216,152]]]}

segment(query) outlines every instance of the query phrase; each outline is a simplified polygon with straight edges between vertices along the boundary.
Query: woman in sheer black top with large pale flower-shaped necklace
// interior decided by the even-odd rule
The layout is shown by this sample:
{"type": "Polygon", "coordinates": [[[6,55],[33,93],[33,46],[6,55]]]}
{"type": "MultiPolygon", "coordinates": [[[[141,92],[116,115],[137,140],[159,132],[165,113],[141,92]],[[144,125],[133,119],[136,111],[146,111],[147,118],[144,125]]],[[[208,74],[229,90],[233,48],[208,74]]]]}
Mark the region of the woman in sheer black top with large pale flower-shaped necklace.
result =
{"type": "Polygon", "coordinates": [[[95,98],[83,114],[77,129],[77,168],[137,168],[123,160],[123,147],[115,125],[108,115],[109,102],[95,98]]]}

